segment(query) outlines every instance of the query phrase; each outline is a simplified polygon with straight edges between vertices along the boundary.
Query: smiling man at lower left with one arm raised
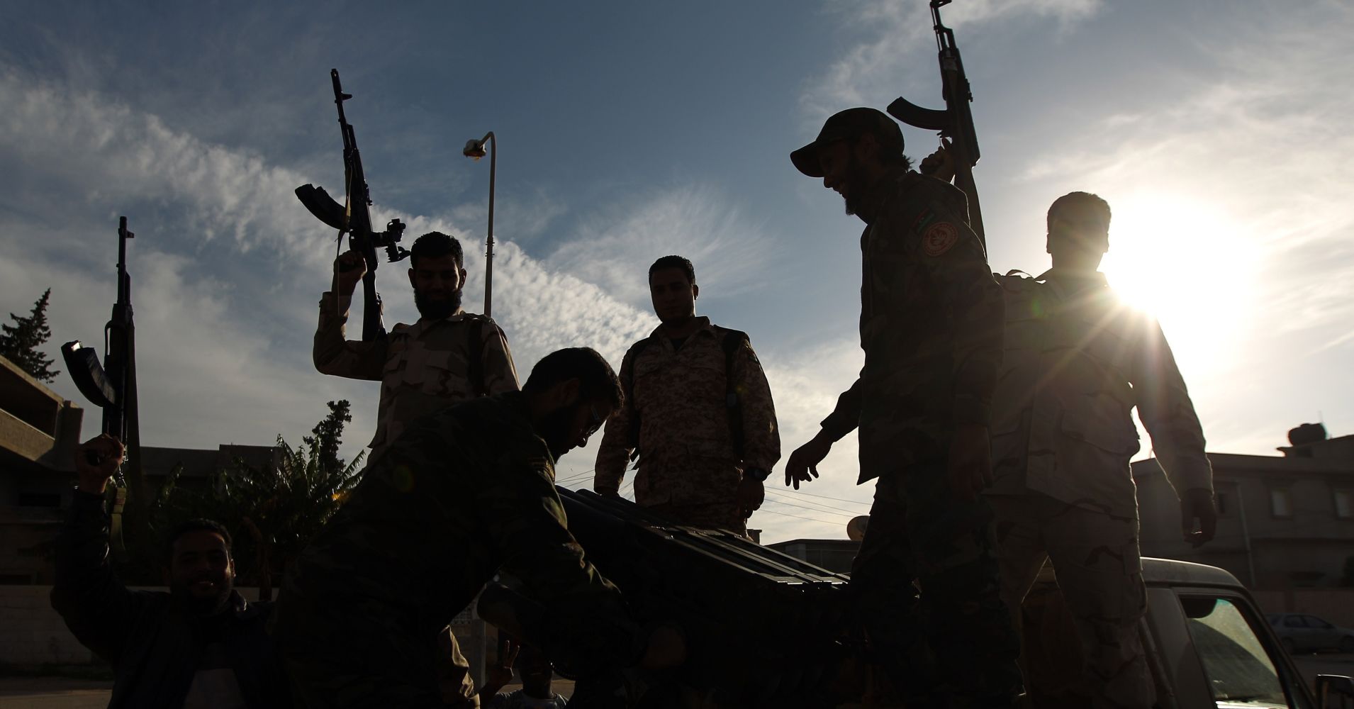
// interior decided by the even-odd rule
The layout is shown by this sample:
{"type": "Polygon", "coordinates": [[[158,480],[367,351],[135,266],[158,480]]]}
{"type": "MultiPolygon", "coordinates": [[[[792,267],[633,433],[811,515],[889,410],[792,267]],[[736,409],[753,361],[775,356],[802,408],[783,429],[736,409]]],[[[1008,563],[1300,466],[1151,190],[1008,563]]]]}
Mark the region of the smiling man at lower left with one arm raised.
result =
{"type": "Polygon", "coordinates": [[[169,593],[133,591],[108,564],[104,490],[122,444],[103,434],[76,452],[76,487],[57,537],[51,606],[70,632],[112,664],[110,708],[264,708],[290,705],[264,624],[271,603],[234,590],[230,533],[210,520],[167,540],[169,593]]]}

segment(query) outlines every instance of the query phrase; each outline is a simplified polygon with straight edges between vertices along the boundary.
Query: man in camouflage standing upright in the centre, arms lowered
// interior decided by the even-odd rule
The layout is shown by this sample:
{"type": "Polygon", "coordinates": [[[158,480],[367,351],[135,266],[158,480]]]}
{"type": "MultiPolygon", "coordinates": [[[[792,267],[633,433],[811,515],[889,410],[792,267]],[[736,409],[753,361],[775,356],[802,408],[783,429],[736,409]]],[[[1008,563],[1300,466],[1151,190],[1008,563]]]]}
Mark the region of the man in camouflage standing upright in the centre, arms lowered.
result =
{"type": "Polygon", "coordinates": [[[635,502],[674,522],[746,532],[780,459],[776,407],[747,334],[696,317],[696,269],[649,267],[661,325],[620,364],[626,405],[597,447],[593,490],[617,495],[631,453],[635,502]]]}

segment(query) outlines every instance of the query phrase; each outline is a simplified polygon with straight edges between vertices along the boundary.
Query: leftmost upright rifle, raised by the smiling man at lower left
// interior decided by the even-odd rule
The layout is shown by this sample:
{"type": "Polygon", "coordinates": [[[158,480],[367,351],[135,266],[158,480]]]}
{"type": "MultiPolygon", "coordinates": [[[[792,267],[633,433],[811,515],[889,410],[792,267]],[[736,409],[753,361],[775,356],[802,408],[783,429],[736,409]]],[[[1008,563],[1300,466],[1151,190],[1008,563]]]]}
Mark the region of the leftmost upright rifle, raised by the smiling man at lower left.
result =
{"type": "MultiPolygon", "coordinates": [[[[127,275],[127,239],[135,237],[127,230],[127,218],[118,218],[118,300],[112,317],[103,327],[103,364],[99,353],[79,340],[61,345],[66,371],[76,388],[95,406],[103,409],[103,433],[116,437],[126,447],[122,465],[114,474],[112,524],[110,537],[114,549],[123,555],[123,509],[129,497],[137,505],[145,498],[141,476],[141,430],[137,422],[137,348],[135,327],[131,321],[131,276],[127,275]],[[129,480],[133,487],[129,495],[129,480]]],[[[97,464],[97,460],[89,463],[97,464]]],[[[135,507],[135,505],[134,505],[135,507]]]]}

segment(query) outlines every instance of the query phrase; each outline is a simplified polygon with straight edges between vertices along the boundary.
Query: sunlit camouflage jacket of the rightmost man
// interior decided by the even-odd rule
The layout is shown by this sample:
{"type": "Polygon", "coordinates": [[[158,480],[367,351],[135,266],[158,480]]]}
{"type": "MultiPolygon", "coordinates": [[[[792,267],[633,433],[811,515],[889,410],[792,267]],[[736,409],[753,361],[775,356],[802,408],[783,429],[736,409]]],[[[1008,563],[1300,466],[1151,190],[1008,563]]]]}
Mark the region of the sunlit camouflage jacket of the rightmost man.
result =
{"type": "Polygon", "coordinates": [[[1095,276],[1080,287],[1053,271],[997,276],[1006,295],[1006,354],[992,401],[991,493],[1033,490],[1136,517],[1133,406],[1175,490],[1212,490],[1212,468],[1160,325],[1095,276]]]}

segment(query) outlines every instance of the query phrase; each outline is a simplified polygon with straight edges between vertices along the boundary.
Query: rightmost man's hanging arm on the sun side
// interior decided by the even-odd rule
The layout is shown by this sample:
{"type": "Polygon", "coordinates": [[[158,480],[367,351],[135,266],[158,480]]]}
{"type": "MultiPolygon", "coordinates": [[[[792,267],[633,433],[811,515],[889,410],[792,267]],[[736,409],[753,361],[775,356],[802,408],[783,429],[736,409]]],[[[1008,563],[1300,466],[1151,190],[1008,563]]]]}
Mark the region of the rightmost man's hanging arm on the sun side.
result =
{"type": "Polygon", "coordinates": [[[1137,415],[1152,437],[1158,463],[1181,499],[1185,539],[1198,547],[1213,539],[1217,525],[1213,468],[1204,452],[1204,428],[1160,323],[1148,319],[1143,329],[1132,367],[1137,415]]]}

